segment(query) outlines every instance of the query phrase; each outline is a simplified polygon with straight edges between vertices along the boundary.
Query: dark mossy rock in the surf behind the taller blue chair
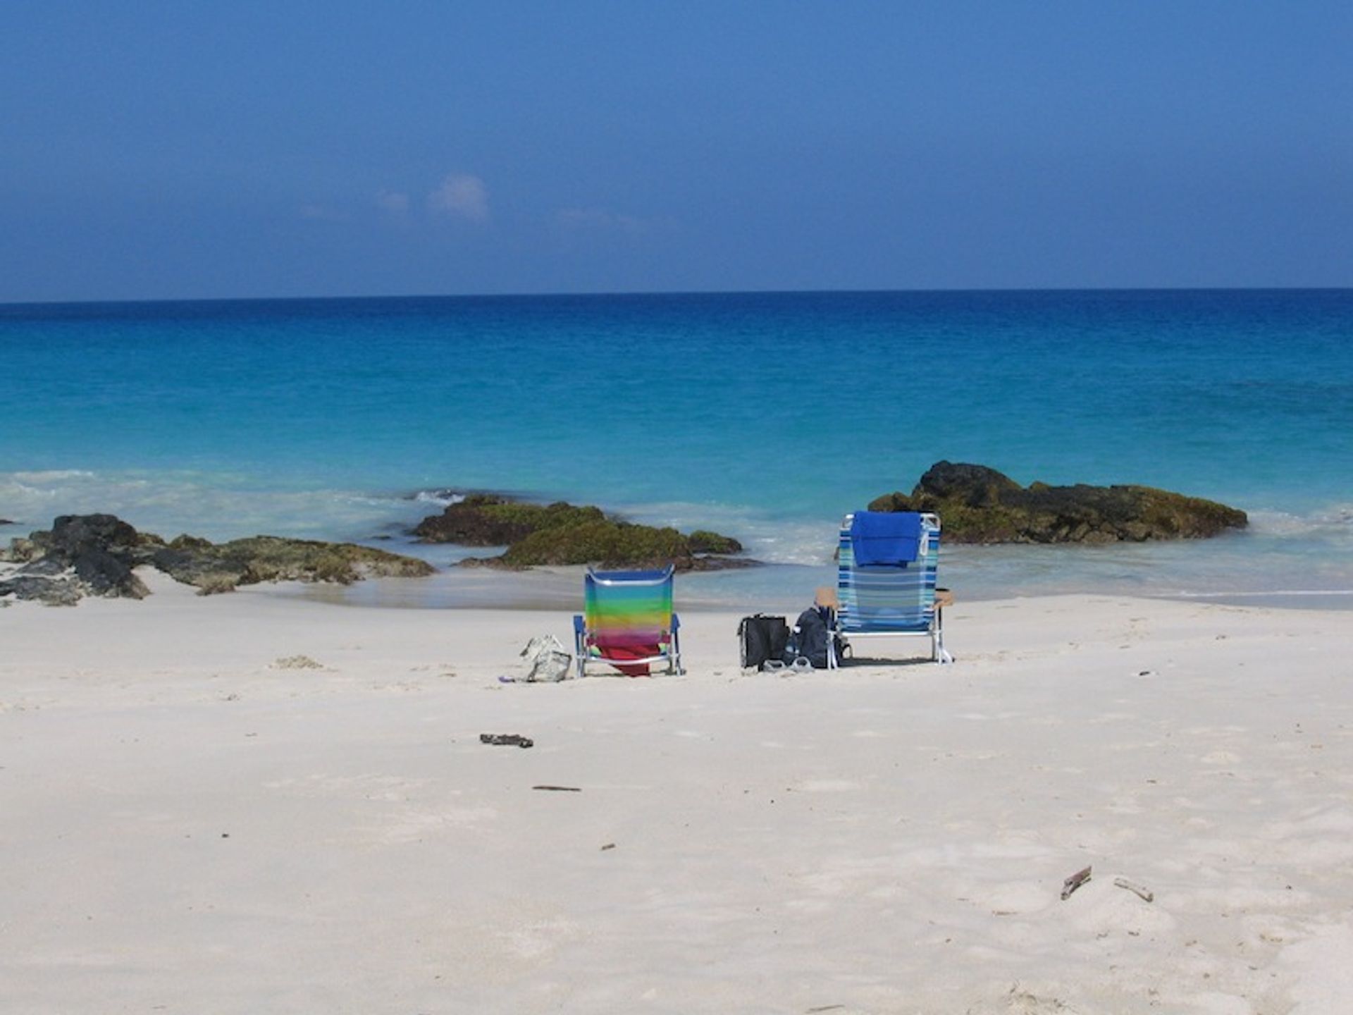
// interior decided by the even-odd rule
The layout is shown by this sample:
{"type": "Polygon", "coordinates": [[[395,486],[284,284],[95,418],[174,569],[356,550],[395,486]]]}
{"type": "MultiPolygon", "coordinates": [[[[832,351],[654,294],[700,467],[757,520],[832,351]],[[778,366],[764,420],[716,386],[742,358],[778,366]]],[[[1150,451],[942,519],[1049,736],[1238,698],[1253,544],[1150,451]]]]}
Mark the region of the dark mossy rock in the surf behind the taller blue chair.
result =
{"type": "Polygon", "coordinates": [[[1206,539],[1249,524],[1245,512],[1149,486],[1023,487],[985,466],[938,461],[909,495],[878,512],[935,512],[954,543],[1116,543],[1206,539]]]}

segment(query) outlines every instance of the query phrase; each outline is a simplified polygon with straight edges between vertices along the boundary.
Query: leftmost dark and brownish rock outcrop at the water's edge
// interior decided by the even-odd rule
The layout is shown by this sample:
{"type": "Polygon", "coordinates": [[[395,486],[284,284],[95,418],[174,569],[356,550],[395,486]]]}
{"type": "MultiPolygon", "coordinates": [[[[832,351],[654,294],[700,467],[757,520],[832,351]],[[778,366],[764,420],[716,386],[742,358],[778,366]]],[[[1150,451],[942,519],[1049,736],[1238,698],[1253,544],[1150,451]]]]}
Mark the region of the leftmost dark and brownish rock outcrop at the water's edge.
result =
{"type": "Polygon", "coordinates": [[[84,595],[143,598],[133,568],[152,566],[206,595],[257,582],[341,582],[376,577],[423,577],[432,564],[352,543],[252,536],[214,544],[193,536],[165,541],[137,532],[112,514],[66,514],[50,531],[11,540],[0,562],[19,564],[0,579],[0,598],[53,605],[84,595]]]}

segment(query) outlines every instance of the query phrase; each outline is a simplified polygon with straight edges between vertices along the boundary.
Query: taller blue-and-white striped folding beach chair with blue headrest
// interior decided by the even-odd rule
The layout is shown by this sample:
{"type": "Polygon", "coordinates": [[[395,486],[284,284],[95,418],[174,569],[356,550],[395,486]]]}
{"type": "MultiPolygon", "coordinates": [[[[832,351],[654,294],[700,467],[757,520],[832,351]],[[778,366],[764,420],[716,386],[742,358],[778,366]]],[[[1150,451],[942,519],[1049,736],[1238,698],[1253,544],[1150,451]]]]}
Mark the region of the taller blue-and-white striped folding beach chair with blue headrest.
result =
{"type": "MultiPolygon", "coordinates": [[[[846,644],[866,637],[928,637],[931,659],[951,663],[935,601],[939,516],[855,512],[842,522],[835,633],[846,644]]],[[[835,664],[835,652],[828,663],[835,664]]]]}

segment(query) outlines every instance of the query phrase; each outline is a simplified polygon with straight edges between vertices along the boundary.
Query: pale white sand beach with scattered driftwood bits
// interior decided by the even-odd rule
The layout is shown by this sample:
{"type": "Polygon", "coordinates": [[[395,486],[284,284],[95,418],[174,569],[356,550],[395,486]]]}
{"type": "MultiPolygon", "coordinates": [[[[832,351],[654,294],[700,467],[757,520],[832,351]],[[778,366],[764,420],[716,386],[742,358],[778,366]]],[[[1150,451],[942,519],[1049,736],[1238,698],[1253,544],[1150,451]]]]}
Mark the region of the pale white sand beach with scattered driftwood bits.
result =
{"type": "Polygon", "coordinates": [[[567,614],[145,578],[0,609],[3,1011],[1353,1010],[1346,612],[959,601],[953,666],[790,677],[690,613],[683,677],[503,685],[567,614]]]}

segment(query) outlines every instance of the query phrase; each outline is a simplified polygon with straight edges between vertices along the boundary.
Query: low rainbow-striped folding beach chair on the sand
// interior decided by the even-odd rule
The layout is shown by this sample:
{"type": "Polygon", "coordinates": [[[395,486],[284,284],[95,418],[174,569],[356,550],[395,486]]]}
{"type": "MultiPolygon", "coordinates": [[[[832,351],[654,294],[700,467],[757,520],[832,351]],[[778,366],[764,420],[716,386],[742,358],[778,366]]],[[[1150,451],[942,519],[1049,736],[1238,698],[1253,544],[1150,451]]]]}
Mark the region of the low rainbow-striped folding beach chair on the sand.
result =
{"type": "Polygon", "coordinates": [[[655,663],[681,673],[681,620],[672,612],[672,567],[662,571],[593,571],[583,583],[583,613],[574,616],[578,675],[605,663],[647,677],[655,663]]]}

